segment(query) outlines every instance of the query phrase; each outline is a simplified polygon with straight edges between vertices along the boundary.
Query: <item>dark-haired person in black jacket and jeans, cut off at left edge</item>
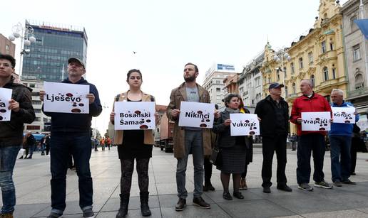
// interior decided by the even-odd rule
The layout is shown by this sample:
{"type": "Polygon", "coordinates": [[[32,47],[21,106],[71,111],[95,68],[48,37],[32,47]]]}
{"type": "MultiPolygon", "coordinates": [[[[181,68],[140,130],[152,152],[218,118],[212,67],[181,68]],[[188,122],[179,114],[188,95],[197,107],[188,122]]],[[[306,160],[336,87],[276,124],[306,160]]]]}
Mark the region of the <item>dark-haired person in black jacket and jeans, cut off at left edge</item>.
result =
{"type": "Polygon", "coordinates": [[[31,124],[35,119],[31,89],[14,83],[12,73],[15,63],[11,55],[0,55],[0,87],[13,90],[9,102],[10,121],[0,121],[0,187],[3,198],[1,217],[7,218],[13,217],[16,204],[12,175],[16,156],[23,142],[24,123],[31,124]]]}

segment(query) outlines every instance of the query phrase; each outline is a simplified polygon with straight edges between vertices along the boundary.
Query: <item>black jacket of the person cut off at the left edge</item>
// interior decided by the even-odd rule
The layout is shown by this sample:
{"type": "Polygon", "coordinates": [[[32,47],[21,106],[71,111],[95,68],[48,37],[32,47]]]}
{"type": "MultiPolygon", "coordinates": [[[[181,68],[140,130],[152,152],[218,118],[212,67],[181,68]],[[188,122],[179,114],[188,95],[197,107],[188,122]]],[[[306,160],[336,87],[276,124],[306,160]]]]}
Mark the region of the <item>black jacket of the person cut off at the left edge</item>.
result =
{"type": "Polygon", "coordinates": [[[19,102],[20,109],[18,112],[11,111],[10,121],[0,122],[0,146],[21,146],[24,123],[31,124],[36,117],[32,107],[32,89],[14,83],[14,77],[3,88],[13,89],[11,98],[19,102]]]}

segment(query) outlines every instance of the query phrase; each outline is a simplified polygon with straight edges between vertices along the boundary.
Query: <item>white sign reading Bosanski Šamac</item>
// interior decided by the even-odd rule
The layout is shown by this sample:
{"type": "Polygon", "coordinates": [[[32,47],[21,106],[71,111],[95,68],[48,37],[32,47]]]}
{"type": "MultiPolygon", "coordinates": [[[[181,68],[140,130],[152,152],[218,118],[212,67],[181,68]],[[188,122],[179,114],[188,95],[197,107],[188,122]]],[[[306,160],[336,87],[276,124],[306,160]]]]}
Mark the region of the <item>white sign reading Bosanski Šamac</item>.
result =
{"type": "Polygon", "coordinates": [[[155,102],[115,102],[115,129],[155,129],[155,102]]]}

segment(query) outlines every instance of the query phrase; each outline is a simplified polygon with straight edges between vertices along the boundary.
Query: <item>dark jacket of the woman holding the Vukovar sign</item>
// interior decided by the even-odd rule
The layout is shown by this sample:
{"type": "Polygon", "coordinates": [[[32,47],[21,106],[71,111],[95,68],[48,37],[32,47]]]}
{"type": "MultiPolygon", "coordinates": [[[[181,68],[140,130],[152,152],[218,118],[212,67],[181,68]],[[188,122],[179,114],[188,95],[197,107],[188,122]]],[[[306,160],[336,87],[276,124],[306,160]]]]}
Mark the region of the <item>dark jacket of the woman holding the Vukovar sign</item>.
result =
{"type": "MultiPolygon", "coordinates": [[[[230,113],[228,111],[221,111],[220,117],[215,120],[213,124],[212,131],[217,133],[216,146],[219,148],[231,148],[235,146],[236,137],[241,136],[231,136],[230,135],[230,126],[225,126],[224,121],[230,119],[230,113]]],[[[245,146],[249,149],[252,146],[251,138],[248,136],[244,136],[245,138],[245,146]]]]}

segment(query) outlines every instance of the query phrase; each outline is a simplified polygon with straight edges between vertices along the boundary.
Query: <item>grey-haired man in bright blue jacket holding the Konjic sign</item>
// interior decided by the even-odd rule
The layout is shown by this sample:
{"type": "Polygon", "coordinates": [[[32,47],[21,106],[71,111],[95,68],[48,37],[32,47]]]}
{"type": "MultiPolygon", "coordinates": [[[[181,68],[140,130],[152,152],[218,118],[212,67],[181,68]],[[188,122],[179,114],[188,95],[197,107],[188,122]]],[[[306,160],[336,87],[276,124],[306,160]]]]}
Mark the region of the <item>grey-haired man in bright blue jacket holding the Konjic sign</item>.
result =
{"type": "MultiPolygon", "coordinates": [[[[341,89],[332,89],[331,107],[354,107],[349,102],[344,102],[344,92],[341,89]]],[[[355,112],[355,122],[359,115],[355,112]]],[[[331,172],[334,186],[341,187],[342,183],[356,185],[349,180],[351,170],[350,148],[352,146],[353,124],[331,124],[329,142],[331,143],[331,172]]]]}

